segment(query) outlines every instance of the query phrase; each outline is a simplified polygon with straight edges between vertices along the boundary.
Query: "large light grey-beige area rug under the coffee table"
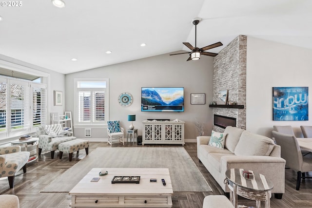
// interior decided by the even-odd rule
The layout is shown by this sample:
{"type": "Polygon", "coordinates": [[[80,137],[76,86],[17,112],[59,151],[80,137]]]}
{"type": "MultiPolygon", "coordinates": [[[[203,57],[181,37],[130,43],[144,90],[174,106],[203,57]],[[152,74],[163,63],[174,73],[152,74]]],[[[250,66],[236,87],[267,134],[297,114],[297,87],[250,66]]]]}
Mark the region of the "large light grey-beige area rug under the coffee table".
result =
{"type": "Polygon", "coordinates": [[[92,168],[168,168],[174,191],[212,189],[184,148],[97,148],[40,192],[69,192],[92,168]]]}

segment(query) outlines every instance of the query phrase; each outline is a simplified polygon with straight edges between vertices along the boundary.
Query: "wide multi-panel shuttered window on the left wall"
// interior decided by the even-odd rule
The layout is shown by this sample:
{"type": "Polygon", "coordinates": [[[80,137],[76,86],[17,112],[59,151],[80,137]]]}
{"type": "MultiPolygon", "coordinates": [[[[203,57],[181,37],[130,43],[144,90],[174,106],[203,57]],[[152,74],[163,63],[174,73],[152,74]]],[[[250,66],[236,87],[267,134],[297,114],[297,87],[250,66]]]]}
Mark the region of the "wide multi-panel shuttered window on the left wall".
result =
{"type": "Polygon", "coordinates": [[[46,86],[0,76],[0,140],[46,123],[46,86]]]}

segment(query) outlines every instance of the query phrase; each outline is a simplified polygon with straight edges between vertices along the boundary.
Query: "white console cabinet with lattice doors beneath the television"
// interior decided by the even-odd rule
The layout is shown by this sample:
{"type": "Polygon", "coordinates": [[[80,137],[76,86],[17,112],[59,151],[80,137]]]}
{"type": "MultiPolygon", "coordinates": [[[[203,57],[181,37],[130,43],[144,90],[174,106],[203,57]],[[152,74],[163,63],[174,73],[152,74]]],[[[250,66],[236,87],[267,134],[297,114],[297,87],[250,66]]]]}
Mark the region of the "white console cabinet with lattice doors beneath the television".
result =
{"type": "Polygon", "coordinates": [[[143,121],[142,145],[184,145],[184,121],[143,121]]]}

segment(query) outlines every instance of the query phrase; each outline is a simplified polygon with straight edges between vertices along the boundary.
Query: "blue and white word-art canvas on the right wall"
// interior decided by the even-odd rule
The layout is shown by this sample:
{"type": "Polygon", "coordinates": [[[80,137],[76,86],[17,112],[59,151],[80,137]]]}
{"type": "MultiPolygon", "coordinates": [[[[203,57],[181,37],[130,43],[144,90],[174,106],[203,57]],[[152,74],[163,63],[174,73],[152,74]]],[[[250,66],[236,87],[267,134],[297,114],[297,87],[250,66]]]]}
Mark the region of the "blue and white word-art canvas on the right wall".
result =
{"type": "Polygon", "coordinates": [[[309,120],[308,87],[273,87],[273,121],[309,120]]]}

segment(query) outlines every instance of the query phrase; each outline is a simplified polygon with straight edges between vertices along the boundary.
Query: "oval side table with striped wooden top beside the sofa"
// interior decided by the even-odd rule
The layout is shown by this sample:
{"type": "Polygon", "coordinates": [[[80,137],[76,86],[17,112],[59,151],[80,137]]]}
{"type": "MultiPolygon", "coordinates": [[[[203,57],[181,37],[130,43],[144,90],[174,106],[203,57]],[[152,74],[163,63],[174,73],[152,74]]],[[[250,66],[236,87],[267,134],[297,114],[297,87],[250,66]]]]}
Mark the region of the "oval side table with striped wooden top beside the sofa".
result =
{"type": "Polygon", "coordinates": [[[271,190],[273,184],[268,182],[264,175],[254,173],[254,179],[245,179],[242,175],[244,169],[229,169],[225,172],[228,186],[231,190],[230,200],[235,208],[238,207],[237,195],[256,201],[256,208],[261,207],[261,201],[265,201],[265,208],[270,208],[271,190]]]}

